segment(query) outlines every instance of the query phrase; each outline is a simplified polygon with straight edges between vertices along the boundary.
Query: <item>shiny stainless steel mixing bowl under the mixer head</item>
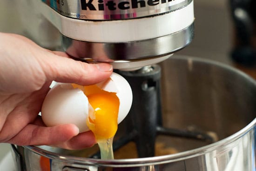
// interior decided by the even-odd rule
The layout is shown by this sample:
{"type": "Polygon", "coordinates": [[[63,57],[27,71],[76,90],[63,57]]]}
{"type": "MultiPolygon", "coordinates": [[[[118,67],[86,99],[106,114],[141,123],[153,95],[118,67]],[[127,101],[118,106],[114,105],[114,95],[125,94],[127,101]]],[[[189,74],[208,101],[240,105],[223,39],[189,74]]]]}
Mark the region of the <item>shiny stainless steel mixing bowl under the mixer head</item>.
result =
{"type": "MultiPolygon", "coordinates": [[[[83,151],[25,146],[27,170],[35,171],[40,167],[40,156],[45,156],[51,160],[52,171],[65,166],[88,171],[255,171],[254,79],[219,63],[172,57],[162,63],[161,90],[165,127],[216,133],[218,141],[205,144],[187,138],[158,137],[156,141],[174,147],[178,153],[126,158],[132,153],[129,150],[115,160],[87,158],[83,151]]],[[[118,134],[125,133],[123,128],[129,126],[121,125],[118,134]]]]}

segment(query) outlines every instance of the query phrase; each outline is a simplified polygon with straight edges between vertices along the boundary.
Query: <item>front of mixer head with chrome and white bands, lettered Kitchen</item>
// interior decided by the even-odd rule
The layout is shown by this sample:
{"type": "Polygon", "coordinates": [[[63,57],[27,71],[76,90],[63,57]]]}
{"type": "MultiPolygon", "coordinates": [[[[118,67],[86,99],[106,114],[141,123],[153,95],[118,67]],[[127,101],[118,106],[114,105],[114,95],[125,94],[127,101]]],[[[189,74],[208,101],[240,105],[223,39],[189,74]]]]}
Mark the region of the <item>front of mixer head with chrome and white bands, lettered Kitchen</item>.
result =
{"type": "Polygon", "coordinates": [[[161,62],[194,35],[193,0],[42,0],[42,14],[74,59],[135,70],[161,62]]]}

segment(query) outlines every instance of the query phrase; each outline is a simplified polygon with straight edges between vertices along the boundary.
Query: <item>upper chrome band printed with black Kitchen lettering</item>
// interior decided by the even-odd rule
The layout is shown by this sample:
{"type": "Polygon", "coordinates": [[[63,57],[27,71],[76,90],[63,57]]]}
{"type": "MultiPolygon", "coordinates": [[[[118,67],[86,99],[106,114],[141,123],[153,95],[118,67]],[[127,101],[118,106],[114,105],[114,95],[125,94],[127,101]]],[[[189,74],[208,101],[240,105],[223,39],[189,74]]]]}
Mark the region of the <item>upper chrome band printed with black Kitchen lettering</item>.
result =
{"type": "Polygon", "coordinates": [[[192,0],[42,0],[66,17],[82,20],[123,20],[169,13],[192,0]]]}

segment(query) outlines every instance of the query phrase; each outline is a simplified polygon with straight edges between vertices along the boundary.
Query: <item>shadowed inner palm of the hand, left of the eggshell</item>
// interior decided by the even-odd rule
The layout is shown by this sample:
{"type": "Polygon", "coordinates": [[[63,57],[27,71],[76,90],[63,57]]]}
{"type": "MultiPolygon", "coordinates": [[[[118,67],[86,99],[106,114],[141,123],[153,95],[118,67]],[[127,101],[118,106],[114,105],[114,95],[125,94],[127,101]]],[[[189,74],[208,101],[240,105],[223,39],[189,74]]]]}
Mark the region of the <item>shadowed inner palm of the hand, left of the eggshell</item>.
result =
{"type": "Polygon", "coordinates": [[[28,123],[39,125],[39,121],[42,122],[38,113],[48,90],[48,86],[45,85],[41,90],[31,94],[14,94],[0,104],[0,142],[13,138],[28,123]]]}

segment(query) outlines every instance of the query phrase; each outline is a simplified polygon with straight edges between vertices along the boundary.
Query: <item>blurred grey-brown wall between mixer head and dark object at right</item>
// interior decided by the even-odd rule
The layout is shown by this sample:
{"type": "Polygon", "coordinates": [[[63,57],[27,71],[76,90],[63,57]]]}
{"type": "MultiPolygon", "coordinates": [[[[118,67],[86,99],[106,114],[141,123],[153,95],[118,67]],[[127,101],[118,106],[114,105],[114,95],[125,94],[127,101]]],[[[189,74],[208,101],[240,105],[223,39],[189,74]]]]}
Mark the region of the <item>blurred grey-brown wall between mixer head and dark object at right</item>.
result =
{"type": "Polygon", "coordinates": [[[227,0],[194,0],[195,38],[178,54],[231,64],[233,23],[227,0]]]}

